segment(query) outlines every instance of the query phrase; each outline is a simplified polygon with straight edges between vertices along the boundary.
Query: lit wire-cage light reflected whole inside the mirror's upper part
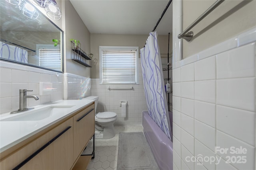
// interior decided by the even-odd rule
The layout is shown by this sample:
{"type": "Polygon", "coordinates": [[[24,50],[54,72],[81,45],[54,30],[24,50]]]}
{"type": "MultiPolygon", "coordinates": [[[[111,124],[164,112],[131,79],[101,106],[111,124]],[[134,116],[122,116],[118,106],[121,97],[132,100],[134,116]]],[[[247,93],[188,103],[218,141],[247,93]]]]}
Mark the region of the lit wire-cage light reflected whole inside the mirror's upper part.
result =
{"type": "Polygon", "coordinates": [[[26,0],[20,0],[20,12],[33,20],[36,20],[36,18],[38,18],[39,14],[38,11],[34,8],[34,6],[32,6],[31,4],[29,4],[26,0]]]}

